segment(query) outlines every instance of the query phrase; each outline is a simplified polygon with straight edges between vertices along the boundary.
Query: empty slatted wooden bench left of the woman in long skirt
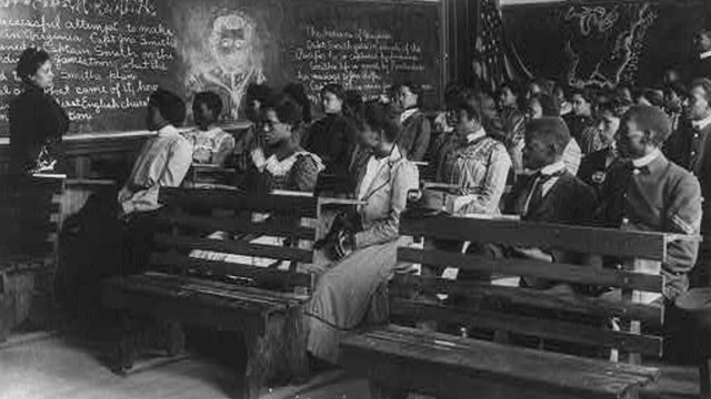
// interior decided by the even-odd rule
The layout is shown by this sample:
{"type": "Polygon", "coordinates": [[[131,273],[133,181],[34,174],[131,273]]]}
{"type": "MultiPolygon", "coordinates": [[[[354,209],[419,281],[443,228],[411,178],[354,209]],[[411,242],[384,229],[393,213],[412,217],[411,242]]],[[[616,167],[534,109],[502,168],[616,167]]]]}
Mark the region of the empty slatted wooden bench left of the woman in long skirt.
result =
{"type": "MultiPolygon", "coordinates": [[[[313,242],[314,229],[302,222],[316,217],[317,200],[161,188],[160,202],[148,272],[107,282],[104,303],[173,324],[243,332],[246,398],[274,378],[306,378],[302,316],[313,276],[297,264],[313,257],[303,244],[313,242]],[[230,238],[210,238],[214,232],[230,238]],[[272,239],[256,243],[264,236],[272,239]]],[[[123,370],[137,356],[136,339],[131,331],[122,338],[123,370]]]]}

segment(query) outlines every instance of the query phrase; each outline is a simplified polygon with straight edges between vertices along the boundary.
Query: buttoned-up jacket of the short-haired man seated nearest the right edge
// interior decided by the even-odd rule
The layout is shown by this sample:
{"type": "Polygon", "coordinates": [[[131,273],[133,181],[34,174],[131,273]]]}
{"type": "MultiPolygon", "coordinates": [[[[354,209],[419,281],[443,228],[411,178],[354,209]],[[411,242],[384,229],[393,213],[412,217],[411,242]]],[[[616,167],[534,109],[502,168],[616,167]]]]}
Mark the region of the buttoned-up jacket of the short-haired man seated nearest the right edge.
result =
{"type": "MultiPolygon", "coordinates": [[[[697,178],[665,156],[649,164],[649,173],[633,174],[617,164],[602,188],[598,219],[604,227],[642,232],[699,234],[701,188],[697,178]],[[624,221],[624,222],[623,222],[624,221]]],[[[687,290],[687,273],[695,263],[699,244],[672,242],[662,263],[664,296],[675,298],[687,290]]]]}

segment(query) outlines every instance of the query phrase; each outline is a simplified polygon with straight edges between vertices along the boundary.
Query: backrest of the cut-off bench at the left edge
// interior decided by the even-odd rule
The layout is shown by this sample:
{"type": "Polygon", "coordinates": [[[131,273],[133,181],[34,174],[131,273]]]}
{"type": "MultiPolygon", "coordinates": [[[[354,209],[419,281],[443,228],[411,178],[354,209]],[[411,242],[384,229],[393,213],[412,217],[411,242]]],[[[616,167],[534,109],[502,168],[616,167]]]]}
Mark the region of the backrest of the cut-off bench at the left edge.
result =
{"type": "Polygon", "coordinates": [[[53,263],[63,177],[0,175],[0,260],[53,263]]]}

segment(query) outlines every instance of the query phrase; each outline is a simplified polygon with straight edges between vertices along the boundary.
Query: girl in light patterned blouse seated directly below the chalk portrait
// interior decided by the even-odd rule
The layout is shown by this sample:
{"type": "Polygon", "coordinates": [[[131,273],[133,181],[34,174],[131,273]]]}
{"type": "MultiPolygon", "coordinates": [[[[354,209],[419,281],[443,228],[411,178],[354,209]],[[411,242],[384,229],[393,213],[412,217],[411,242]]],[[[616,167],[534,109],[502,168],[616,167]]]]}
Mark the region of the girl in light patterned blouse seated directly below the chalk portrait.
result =
{"type": "Polygon", "coordinates": [[[192,143],[192,160],[199,164],[222,166],[234,151],[234,137],[217,125],[222,100],[212,92],[201,92],[192,100],[192,115],[198,129],[186,133],[192,143]]]}

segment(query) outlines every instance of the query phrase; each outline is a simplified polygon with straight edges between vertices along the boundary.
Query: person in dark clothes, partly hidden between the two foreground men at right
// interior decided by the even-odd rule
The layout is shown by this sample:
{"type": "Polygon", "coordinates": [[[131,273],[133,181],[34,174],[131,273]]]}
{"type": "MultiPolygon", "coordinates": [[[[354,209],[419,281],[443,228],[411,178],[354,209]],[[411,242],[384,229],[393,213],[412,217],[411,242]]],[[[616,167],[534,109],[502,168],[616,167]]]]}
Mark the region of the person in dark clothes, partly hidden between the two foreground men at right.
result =
{"type": "Polygon", "coordinates": [[[621,160],[615,137],[620,127],[620,119],[625,111],[627,109],[620,108],[617,101],[600,105],[599,141],[601,146],[605,146],[585,155],[580,163],[578,177],[594,188],[598,194],[607,180],[610,167],[621,160]]]}

